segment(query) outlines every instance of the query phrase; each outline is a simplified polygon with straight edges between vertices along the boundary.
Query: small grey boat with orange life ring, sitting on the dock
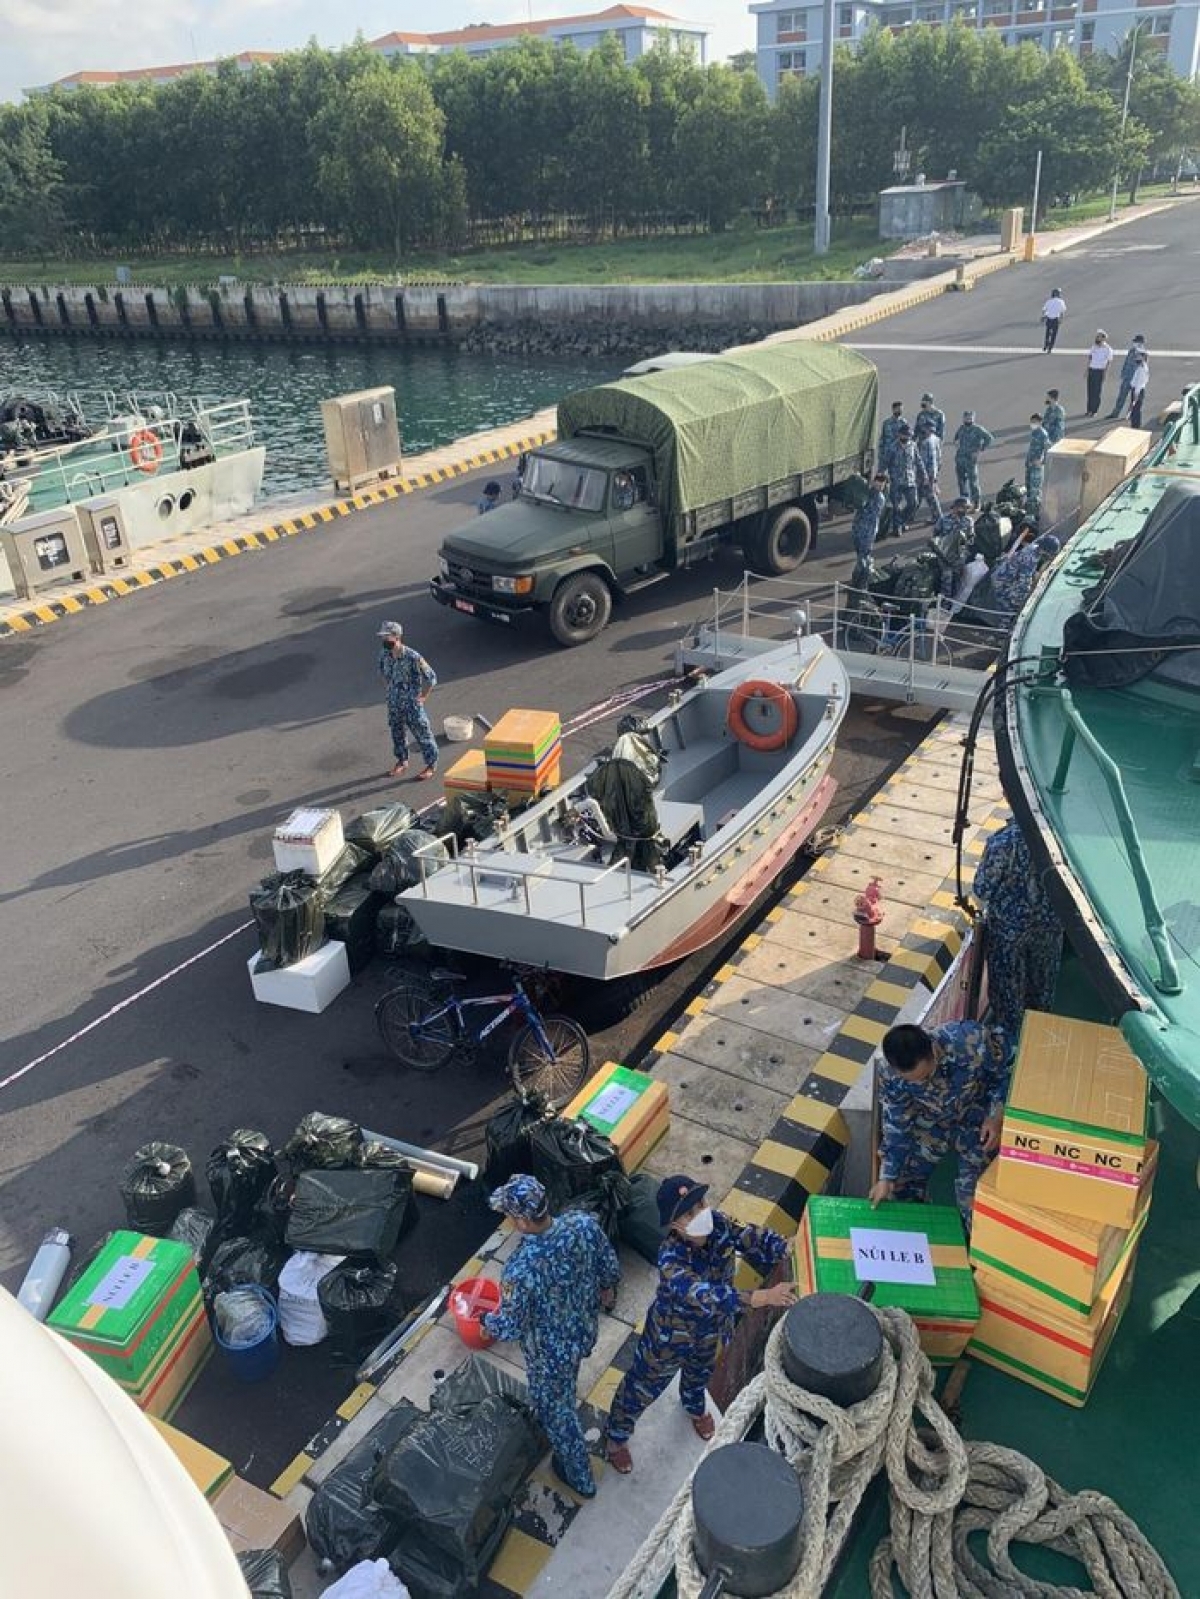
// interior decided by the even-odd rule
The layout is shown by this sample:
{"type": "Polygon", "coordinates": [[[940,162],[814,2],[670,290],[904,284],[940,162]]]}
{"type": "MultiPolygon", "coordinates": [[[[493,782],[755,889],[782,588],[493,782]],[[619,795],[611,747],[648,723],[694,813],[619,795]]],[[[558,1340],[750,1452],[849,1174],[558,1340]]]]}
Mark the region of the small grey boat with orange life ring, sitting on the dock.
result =
{"type": "Polygon", "coordinates": [[[442,948],[578,977],[691,955],[821,822],[848,699],[845,667],[816,636],[739,662],[672,694],[483,841],[440,841],[400,903],[442,948]]]}

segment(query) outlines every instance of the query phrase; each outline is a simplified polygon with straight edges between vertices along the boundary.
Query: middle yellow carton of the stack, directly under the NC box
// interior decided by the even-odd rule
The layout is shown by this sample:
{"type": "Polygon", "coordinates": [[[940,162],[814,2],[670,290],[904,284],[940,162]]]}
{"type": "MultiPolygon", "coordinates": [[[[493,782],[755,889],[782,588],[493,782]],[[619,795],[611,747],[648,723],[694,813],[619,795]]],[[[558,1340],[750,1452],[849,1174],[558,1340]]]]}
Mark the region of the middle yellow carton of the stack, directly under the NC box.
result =
{"type": "MultiPolygon", "coordinates": [[[[1157,1143],[1147,1143],[1152,1167],[1157,1143]]],[[[974,1191],[971,1265],[1013,1281],[1022,1292],[1090,1314],[1109,1276],[1141,1238],[1150,1214],[1152,1185],[1141,1188],[1133,1226],[1106,1226],[1062,1210],[1038,1210],[1005,1198],[992,1161],[974,1191]]]]}

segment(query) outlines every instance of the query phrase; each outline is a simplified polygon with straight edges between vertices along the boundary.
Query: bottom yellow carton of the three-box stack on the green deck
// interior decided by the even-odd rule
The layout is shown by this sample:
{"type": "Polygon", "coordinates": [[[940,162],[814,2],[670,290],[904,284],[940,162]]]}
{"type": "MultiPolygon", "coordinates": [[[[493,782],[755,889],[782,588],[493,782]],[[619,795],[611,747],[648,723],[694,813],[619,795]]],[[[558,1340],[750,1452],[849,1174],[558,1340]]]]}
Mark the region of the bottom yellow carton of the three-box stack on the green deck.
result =
{"type": "Polygon", "coordinates": [[[1136,1257],[1130,1250],[1109,1274],[1088,1316],[1026,1295],[1011,1278],[978,1271],[981,1314],[966,1353],[1080,1409],[1130,1303],[1136,1257]]]}

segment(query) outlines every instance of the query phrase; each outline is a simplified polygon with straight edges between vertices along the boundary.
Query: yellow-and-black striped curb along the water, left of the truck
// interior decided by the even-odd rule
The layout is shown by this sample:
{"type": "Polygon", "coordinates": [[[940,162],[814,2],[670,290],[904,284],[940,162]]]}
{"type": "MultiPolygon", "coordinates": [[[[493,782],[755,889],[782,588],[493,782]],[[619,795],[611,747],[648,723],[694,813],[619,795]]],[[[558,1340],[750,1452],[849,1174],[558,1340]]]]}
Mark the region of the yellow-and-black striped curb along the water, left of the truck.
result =
{"type": "Polygon", "coordinates": [[[272,544],[278,544],[280,539],[291,539],[298,532],[325,528],[342,516],[352,516],[355,512],[371,510],[374,505],[384,505],[387,500],[400,499],[405,494],[416,494],[419,489],[434,488],[437,483],[466,477],[467,472],[478,472],[480,467],[510,461],[514,456],[520,456],[526,449],[536,449],[552,438],[554,433],[550,432],[533,433],[530,438],[518,438],[510,445],[496,445],[493,449],[483,449],[477,456],[451,461],[445,467],[430,467],[429,472],[419,472],[411,478],[395,478],[390,483],[379,483],[374,488],[350,496],[350,499],[333,500],[317,510],[302,512],[288,521],[262,528],[259,532],[243,532],[234,539],[224,539],[221,544],[213,544],[205,550],[160,561],[157,566],[149,566],[144,571],[131,571],[123,577],[107,577],[104,582],[98,582],[94,587],[85,588],[77,595],[64,595],[61,600],[45,600],[40,604],[32,604],[27,611],[18,611],[0,619],[0,638],[35,632],[37,628],[48,627],[51,622],[62,620],[62,617],[77,616],[80,611],[93,609],[98,604],[107,604],[109,600],[122,600],[125,595],[165,584],[171,577],[200,572],[235,555],[246,555],[251,550],[267,550],[272,544]]]}

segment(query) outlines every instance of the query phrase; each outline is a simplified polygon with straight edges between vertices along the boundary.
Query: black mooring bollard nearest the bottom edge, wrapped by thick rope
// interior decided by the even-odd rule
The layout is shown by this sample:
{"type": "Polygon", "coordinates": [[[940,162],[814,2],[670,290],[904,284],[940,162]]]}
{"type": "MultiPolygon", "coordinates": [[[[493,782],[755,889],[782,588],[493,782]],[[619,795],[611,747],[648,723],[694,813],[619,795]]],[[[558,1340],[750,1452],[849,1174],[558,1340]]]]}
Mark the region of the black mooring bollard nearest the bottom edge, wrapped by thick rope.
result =
{"type": "Polygon", "coordinates": [[[706,1599],[762,1599],[790,1581],[803,1554],[805,1495],[782,1455],[765,1444],[725,1444],[691,1479],[696,1559],[706,1599]]]}

